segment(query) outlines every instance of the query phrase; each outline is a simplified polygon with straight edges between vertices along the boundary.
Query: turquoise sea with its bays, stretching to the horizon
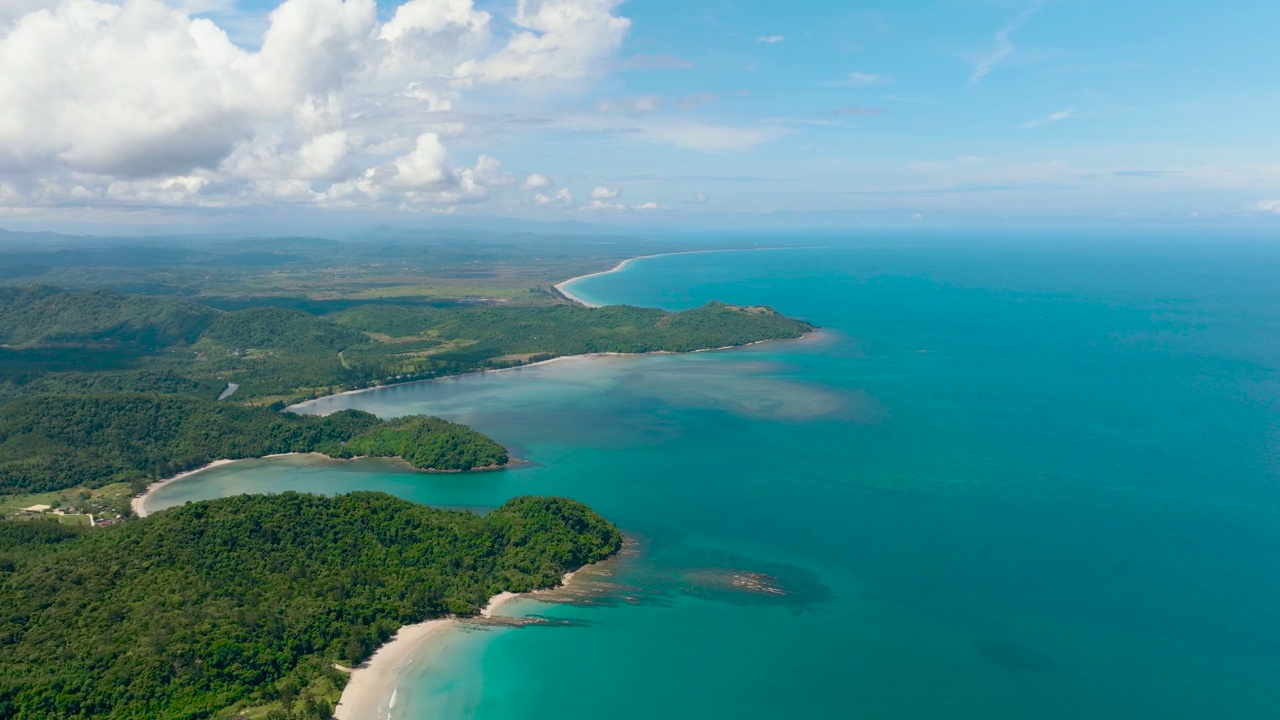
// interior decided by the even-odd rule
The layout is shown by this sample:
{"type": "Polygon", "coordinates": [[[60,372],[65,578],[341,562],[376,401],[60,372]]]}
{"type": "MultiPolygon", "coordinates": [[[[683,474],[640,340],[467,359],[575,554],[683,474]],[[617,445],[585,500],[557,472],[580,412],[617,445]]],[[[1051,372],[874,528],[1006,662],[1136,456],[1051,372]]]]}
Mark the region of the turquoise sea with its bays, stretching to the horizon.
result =
{"type": "Polygon", "coordinates": [[[509,610],[564,623],[436,644],[397,717],[1280,717],[1280,249],[820,240],[573,287],[769,304],[814,341],[311,406],[440,414],[532,466],[265,460],[157,503],[566,495],[635,538],[571,602],[509,610]]]}

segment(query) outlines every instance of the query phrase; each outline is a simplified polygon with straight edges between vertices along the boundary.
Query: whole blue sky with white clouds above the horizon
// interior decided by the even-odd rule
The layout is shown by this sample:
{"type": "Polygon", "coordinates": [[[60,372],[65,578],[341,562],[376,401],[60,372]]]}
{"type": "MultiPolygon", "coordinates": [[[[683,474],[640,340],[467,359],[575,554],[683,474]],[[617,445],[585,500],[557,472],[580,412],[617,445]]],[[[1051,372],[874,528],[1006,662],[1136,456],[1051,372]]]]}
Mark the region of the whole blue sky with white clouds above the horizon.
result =
{"type": "Polygon", "coordinates": [[[4,0],[0,227],[1280,228],[1280,3],[4,0]]]}

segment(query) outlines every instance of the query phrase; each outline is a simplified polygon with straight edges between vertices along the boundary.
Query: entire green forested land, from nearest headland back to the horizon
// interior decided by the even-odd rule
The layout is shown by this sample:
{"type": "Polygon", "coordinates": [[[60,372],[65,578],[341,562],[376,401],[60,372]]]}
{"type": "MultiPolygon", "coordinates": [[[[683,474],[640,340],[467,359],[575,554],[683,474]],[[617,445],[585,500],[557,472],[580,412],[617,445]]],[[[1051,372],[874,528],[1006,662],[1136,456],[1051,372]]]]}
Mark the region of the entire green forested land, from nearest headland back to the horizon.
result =
{"type": "Polygon", "coordinates": [[[0,273],[0,717],[15,720],[329,717],[346,683],[334,665],[401,625],[552,587],[621,547],[563,498],[477,516],[284,493],[129,518],[131,496],[214,460],[509,461],[439,418],[284,410],[298,401],[813,329],[769,307],[593,309],[554,291],[566,268],[614,264],[614,241],[60,242],[0,243],[14,270],[0,273]]]}

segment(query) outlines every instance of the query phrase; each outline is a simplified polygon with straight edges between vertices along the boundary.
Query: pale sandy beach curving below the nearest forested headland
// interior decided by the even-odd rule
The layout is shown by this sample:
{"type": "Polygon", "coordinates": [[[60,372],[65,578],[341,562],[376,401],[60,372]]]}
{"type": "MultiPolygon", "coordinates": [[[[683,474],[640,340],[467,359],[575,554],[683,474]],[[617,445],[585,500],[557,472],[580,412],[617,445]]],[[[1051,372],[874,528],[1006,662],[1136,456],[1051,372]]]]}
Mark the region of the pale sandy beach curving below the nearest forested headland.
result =
{"type": "MultiPolygon", "coordinates": [[[[566,573],[558,587],[564,587],[575,573],[566,573]]],[[[554,588],[548,588],[554,589],[554,588]]],[[[493,618],[504,605],[531,593],[503,592],[489,598],[480,611],[481,618],[493,618]]],[[[461,625],[460,618],[436,618],[413,625],[404,625],[392,639],[378,648],[360,667],[351,671],[342,698],[333,711],[334,720],[387,720],[396,707],[401,676],[421,655],[421,648],[431,638],[461,625]]]]}

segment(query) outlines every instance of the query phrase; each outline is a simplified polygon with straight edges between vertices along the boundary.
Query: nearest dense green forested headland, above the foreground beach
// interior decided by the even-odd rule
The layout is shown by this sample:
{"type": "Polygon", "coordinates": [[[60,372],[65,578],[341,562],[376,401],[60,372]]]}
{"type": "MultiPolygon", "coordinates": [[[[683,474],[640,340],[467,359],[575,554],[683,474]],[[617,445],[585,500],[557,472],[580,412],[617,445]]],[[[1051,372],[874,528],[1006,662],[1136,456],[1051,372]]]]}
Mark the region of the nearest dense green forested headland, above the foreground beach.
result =
{"type": "Polygon", "coordinates": [[[481,518],[284,493],[87,534],[0,524],[0,717],[328,717],[344,683],[333,662],[620,547],[613,525],[562,498],[481,518]]]}

